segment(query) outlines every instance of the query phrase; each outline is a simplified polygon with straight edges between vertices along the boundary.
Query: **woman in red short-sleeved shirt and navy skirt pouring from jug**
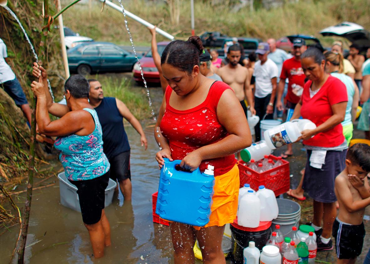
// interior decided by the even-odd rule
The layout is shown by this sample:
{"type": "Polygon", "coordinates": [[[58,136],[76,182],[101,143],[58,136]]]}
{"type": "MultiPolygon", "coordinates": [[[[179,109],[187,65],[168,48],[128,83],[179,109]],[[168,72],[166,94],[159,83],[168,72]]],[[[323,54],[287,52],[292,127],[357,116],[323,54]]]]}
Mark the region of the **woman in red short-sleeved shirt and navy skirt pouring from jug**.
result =
{"type": "Polygon", "coordinates": [[[302,132],[307,149],[303,189],[313,198],[312,227],[317,234],[317,250],[331,250],[331,233],[336,217],[335,177],[345,167],[347,142],[340,124],[347,106],[347,89],[339,79],[327,74],[325,56],[317,48],[302,54],[302,68],[309,81],[292,119],[310,119],[317,126],[302,132]],[[323,223],[323,226],[322,226],[323,223]]]}

